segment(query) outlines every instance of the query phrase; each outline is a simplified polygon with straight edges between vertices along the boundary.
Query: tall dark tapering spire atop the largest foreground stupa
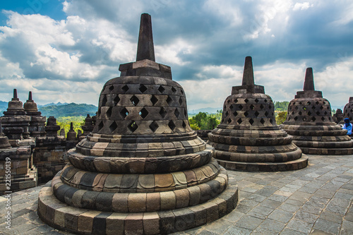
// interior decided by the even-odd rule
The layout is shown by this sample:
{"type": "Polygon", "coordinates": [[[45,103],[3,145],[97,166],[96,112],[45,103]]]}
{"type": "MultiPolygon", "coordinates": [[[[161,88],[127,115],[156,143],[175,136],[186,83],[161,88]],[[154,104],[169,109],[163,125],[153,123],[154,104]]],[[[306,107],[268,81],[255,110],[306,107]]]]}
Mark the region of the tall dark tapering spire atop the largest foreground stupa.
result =
{"type": "Polygon", "coordinates": [[[152,37],[152,20],[148,13],[143,13],[140,20],[136,61],[149,59],[155,61],[155,47],[152,37]]]}

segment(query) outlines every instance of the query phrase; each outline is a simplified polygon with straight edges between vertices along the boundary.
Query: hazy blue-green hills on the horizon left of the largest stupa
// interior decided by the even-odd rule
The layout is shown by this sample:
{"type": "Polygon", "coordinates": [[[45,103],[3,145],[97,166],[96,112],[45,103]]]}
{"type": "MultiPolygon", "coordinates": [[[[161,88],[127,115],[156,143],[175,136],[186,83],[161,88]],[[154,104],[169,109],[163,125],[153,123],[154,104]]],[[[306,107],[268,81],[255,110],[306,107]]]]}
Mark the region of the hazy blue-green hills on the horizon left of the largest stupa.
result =
{"type": "Polygon", "coordinates": [[[92,104],[64,104],[64,105],[49,105],[46,107],[39,107],[38,111],[42,112],[42,116],[94,116],[98,111],[98,107],[92,104]]]}

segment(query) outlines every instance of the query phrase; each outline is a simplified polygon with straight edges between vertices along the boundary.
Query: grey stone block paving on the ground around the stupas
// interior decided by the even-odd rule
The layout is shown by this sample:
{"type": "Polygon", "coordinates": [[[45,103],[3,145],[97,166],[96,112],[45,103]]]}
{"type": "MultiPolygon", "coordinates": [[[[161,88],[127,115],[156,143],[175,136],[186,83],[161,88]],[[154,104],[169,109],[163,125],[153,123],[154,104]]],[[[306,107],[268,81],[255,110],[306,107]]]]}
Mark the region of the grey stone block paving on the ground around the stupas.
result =
{"type": "MultiPolygon", "coordinates": [[[[309,155],[298,171],[228,171],[239,187],[229,215],[178,234],[353,234],[353,155],[309,155]]],[[[11,230],[0,197],[0,234],[68,234],[37,216],[42,187],[11,194],[11,230]]]]}

